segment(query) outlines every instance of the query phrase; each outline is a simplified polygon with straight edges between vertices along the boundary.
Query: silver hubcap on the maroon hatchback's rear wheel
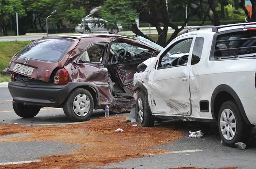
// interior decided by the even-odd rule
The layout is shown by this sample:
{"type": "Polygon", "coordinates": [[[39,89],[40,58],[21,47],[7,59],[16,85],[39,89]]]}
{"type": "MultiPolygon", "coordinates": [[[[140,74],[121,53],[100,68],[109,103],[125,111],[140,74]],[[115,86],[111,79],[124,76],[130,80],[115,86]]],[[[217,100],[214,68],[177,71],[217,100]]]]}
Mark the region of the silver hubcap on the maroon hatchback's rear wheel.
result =
{"type": "Polygon", "coordinates": [[[90,109],[90,99],[85,94],[79,94],[73,101],[73,110],[80,117],[86,116],[90,109]]]}

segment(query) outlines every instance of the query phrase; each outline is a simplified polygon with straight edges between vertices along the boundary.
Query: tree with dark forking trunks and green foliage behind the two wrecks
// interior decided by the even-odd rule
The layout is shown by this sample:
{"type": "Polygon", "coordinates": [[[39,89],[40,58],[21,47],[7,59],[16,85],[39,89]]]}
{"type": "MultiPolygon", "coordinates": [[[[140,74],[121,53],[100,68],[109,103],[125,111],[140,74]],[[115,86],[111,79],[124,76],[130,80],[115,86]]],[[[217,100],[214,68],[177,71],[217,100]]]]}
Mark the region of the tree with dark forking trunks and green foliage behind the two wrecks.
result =
{"type": "Polygon", "coordinates": [[[190,17],[196,15],[198,6],[192,6],[193,2],[195,1],[168,0],[168,4],[166,4],[166,0],[105,0],[101,15],[109,24],[121,24],[131,29],[136,35],[152,40],[138,29],[135,19],[140,18],[156,27],[159,36],[157,43],[166,46],[184,29],[190,17]],[[187,19],[185,18],[185,4],[190,10],[187,19]],[[174,16],[179,16],[179,18],[174,16]],[[177,20],[182,20],[181,27],[173,23],[177,20]],[[169,26],[174,29],[174,33],[167,40],[169,26]]]}

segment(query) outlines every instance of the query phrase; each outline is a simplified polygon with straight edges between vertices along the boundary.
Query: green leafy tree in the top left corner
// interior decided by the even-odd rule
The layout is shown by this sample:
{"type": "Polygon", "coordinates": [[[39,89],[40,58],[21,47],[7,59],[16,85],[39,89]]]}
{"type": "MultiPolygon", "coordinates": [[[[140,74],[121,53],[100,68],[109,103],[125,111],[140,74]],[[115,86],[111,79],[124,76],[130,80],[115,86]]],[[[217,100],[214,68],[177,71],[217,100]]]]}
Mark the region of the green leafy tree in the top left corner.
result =
{"type": "Polygon", "coordinates": [[[10,24],[10,20],[16,16],[16,12],[19,17],[26,16],[25,8],[20,0],[1,0],[0,2],[0,27],[4,36],[7,36],[6,27],[10,24]]]}

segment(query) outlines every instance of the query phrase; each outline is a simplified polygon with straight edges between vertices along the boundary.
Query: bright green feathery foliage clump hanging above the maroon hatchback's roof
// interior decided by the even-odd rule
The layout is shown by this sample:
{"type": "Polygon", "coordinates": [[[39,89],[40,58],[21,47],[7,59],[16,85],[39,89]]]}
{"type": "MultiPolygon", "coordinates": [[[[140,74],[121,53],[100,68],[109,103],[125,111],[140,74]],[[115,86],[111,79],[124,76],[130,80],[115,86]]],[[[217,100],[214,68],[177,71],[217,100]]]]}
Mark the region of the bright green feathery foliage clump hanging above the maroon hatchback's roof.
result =
{"type": "Polygon", "coordinates": [[[123,27],[131,27],[139,15],[136,9],[132,7],[137,2],[137,0],[106,0],[101,8],[101,16],[108,21],[108,26],[118,23],[123,27]]]}

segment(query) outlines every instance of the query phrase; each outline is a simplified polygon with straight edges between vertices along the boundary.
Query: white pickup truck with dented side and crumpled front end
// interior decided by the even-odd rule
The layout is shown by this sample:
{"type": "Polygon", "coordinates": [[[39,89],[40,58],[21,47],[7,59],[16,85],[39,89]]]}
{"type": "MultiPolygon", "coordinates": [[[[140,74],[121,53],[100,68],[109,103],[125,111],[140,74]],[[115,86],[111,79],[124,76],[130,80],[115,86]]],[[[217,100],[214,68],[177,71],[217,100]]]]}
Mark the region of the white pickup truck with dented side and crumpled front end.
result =
{"type": "Polygon", "coordinates": [[[226,145],[247,142],[256,124],[256,23],[193,27],[145,64],[133,78],[142,126],[215,121],[226,145]]]}

